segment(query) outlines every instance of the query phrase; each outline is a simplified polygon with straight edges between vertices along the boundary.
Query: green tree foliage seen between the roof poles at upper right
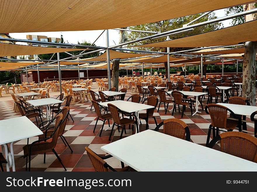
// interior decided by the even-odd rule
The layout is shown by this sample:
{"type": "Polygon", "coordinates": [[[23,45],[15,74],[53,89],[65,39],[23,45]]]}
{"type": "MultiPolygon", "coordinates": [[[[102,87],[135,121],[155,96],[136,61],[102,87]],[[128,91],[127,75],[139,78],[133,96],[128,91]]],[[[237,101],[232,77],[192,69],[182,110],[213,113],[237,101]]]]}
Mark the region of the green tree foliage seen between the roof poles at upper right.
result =
{"type": "MultiPolygon", "coordinates": [[[[158,22],[155,22],[155,23],[148,23],[148,24],[143,24],[143,25],[132,26],[132,27],[129,27],[129,29],[165,32],[165,31],[181,28],[181,27],[183,27],[184,24],[189,23],[190,21],[192,21],[195,18],[201,16],[202,14],[203,13],[190,15],[190,16],[185,16],[185,17],[180,17],[180,18],[175,18],[175,19],[158,21],[158,22]]],[[[217,18],[215,16],[215,13],[211,13],[208,16],[205,16],[205,17],[199,19],[195,23],[201,23],[201,22],[211,20],[211,19],[215,19],[215,18],[217,18]]],[[[209,25],[204,25],[204,26],[201,26],[201,27],[197,27],[194,30],[189,31],[189,32],[179,33],[179,34],[176,34],[176,35],[170,35],[170,39],[178,39],[178,38],[182,38],[182,37],[197,35],[197,34],[200,34],[200,33],[217,30],[221,27],[222,27],[221,23],[213,23],[213,24],[209,24],[209,25]]],[[[130,32],[130,33],[126,32],[125,35],[126,35],[125,40],[126,41],[131,41],[131,40],[146,37],[146,36],[149,36],[149,35],[152,35],[152,34],[139,33],[139,32],[130,32]]],[[[144,41],[141,41],[141,42],[136,42],[136,43],[133,43],[133,44],[129,44],[129,46],[139,45],[139,44],[155,43],[155,42],[161,42],[161,41],[165,41],[165,40],[166,40],[166,37],[161,37],[161,38],[157,38],[157,39],[154,39],[154,40],[149,39],[149,40],[144,40],[144,41]]],[[[147,50],[149,48],[148,47],[138,47],[138,48],[135,48],[135,49],[147,50]]],[[[153,48],[151,50],[152,51],[166,52],[166,49],[162,48],[162,47],[156,47],[156,48],[153,48]]],[[[183,48],[170,48],[171,52],[172,51],[179,51],[179,50],[184,50],[184,49],[183,48]]]]}

